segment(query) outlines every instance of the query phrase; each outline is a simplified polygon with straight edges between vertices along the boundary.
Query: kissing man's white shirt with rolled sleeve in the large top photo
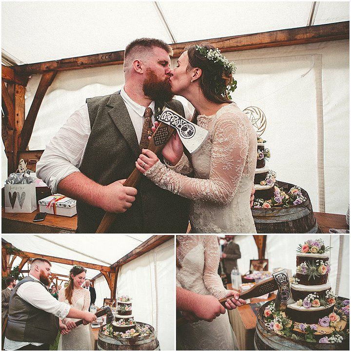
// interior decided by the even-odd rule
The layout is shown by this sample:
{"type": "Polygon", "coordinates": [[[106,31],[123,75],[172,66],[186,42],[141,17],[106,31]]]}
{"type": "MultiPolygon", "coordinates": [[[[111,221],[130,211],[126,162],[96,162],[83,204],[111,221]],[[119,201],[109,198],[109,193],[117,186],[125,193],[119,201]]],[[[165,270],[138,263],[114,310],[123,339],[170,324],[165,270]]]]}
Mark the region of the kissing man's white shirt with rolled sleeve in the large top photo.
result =
{"type": "MultiPolygon", "coordinates": [[[[129,98],[124,91],[124,86],[121,88],[120,95],[131,117],[137,140],[140,142],[145,107],[129,98]]],[[[192,117],[190,109],[183,106],[185,117],[190,119],[192,117]]],[[[155,123],[155,101],[152,101],[149,107],[153,110],[152,119],[155,123]]],[[[88,105],[84,104],[68,117],[66,123],[46,146],[36,170],[37,176],[51,188],[52,194],[57,193],[57,186],[63,178],[74,172],[80,172],[78,168],[83,160],[90,132],[88,105]]]]}

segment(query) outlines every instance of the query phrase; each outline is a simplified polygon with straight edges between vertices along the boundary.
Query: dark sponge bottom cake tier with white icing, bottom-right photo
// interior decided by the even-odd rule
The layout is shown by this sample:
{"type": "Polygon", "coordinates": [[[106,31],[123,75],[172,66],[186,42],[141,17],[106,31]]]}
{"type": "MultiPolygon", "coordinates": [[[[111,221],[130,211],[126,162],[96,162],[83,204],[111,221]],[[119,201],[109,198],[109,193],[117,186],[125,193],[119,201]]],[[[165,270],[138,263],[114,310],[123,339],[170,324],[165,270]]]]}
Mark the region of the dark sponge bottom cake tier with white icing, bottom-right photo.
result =
{"type": "Polygon", "coordinates": [[[311,307],[306,309],[304,307],[298,307],[296,303],[288,304],[285,311],[287,317],[291,320],[305,323],[305,324],[318,324],[319,319],[328,316],[334,310],[334,305],[330,307],[311,307]]]}

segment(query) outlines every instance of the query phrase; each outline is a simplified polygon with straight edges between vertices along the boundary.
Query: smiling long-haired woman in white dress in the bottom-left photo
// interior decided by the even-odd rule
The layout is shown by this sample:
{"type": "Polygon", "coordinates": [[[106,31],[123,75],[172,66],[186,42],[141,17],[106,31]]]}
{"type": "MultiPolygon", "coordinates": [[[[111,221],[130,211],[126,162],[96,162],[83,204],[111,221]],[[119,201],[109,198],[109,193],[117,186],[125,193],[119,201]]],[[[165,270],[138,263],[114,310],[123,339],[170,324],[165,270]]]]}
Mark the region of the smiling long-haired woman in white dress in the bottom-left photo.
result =
{"type": "MultiPolygon", "coordinates": [[[[59,301],[65,302],[81,311],[88,311],[90,306],[90,293],[82,288],[85,281],[86,270],[74,265],[70,270],[69,283],[66,288],[59,291],[59,301]]],[[[58,351],[94,351],[94,336],[88,325],[79,325],[76,328],[75,321],[78,319],[59,319],[60,339],[58,351]],[[71,330],[71,331],[69,331],[71,330]]]]}

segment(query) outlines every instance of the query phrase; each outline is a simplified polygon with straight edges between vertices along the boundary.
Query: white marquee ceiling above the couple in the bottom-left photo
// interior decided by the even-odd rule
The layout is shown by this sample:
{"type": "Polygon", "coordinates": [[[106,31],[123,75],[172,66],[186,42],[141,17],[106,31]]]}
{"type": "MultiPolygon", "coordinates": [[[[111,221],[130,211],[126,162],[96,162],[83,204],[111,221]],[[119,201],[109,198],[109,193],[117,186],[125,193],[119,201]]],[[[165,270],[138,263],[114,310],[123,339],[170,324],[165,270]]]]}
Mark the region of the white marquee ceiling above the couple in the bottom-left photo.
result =
{"type": "MultiPolygon", "coordinates": [[[[7,242],[24,252],[110,266],[146,241],[151,235],[1,235],[7,242]]],[[[13,266],[20,264],[17,257],[13,266]]],[[[52,263],[52,272],[68,275],[71,265],[52,263]]],[[[23,270],[26,270],[26,266],[23,270]]],[[[87,269],[87,278],[99,274],[87,269]]]]}

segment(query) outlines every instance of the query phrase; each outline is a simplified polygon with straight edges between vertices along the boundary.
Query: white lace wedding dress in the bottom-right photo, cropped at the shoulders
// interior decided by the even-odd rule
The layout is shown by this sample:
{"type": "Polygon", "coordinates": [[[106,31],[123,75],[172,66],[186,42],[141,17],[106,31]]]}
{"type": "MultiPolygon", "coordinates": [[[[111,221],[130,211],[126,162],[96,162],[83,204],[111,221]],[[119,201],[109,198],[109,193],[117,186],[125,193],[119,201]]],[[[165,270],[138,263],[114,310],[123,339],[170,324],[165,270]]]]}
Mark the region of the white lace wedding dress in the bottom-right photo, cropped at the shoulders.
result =
{"type": "MultiPolygon", "coordinates": [[[[219,245],[215,235],[177,235],[176,285],[199,294],[224,298],[228,290],[217,274],[219,245]]],[[[187,323],[176,329],[182,350],[238,350],[228,313],[212,322],[187,323]]]]}

